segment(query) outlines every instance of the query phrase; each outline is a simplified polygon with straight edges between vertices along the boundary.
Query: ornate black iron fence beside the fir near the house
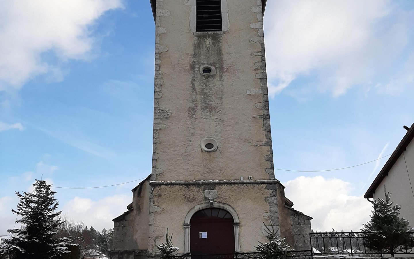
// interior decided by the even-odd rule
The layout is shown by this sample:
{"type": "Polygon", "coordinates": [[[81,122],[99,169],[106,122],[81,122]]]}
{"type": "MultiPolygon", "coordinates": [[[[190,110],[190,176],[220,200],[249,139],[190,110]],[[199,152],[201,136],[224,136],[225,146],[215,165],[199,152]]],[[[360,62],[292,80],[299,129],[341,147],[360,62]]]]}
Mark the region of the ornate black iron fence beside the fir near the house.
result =
{"type": "MultiPolygon", "coordinates": [[[[411,245],[399,247],[396,254],[414,254],[414,232],[409,232],[411,245]]],[[[365,232],[325,232],[309,233],[312,254],[347,254],[361,256],[364,254],[386,254],[383,251],[375,251],[366,246],[365,232]]]]}

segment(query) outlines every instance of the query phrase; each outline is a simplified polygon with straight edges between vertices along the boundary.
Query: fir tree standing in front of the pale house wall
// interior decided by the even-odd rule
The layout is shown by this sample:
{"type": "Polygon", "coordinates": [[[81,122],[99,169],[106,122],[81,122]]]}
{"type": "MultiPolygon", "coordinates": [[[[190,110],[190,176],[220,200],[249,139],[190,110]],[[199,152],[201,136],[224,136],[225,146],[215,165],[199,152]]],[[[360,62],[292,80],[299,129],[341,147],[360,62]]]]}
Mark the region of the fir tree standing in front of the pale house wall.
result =
{"type": "Polygon", "coordinates": [[[410,246],[408,221],[400,218],[401,206],[392,206],[391,194],[385,192],[385,200],[371,201],[374,210],[371,220],[361,231],[366,232],[366,246],[383,254],[391,254],[410,246]]]}

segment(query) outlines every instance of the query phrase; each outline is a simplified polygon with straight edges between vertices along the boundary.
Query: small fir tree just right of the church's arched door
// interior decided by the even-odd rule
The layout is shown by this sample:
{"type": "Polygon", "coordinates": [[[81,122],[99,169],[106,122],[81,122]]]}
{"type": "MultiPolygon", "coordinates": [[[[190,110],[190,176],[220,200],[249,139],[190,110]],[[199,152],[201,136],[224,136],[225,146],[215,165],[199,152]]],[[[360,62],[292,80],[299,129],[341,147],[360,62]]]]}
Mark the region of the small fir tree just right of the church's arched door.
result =
{"type": "MultiPolygon", "coordinates": [[[[263,223],[265,225],[265,223],[263,223]]],[[[262,243],[256,247],[259,252],[260,259],[286,259],[290,251],[290,246],[286,243],[286,238],[280,239],[277,235],[277,231],[274,228],[273,222],[270,221],[270,228],[265,225],[267,242],[262,243]]]]}

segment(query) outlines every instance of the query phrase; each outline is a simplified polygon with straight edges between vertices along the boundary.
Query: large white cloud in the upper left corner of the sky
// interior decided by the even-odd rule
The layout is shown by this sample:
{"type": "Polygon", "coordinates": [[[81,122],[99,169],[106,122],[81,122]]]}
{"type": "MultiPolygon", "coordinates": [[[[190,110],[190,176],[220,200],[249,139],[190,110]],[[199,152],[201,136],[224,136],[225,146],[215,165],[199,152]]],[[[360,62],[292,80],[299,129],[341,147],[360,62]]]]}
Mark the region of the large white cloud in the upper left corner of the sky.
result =
{"type": "Polygon", "coordinates": [[[85,60],[94,46],[91,26],[122,0],[0,1],[0,91],[15,92],[32,77],[61,80],[58,63],[85,60]]]}

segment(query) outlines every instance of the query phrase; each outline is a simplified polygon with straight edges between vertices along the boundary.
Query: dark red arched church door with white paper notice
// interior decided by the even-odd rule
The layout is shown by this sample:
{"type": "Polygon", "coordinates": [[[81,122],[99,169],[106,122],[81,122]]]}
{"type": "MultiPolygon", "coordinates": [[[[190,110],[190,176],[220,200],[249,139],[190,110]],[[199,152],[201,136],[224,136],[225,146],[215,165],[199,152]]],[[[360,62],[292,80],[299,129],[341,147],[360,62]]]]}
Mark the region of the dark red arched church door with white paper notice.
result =
{"type": "Polygon", "coordinates": [[[194,213],[190,220],[190,253],[233,254],[234,220],[222,208],[205,208],[194,213]]]}

